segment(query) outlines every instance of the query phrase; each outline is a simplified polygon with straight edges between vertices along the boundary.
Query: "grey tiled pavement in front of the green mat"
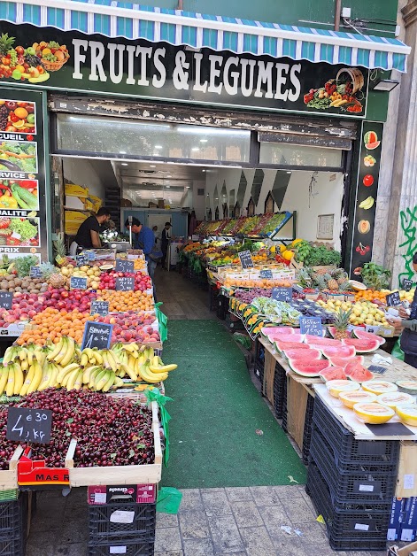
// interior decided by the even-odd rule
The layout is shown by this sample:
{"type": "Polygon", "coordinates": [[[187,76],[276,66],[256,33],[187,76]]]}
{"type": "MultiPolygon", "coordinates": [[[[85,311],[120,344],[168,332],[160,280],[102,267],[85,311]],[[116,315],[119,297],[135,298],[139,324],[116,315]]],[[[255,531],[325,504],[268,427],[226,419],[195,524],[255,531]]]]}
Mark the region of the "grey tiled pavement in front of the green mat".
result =
{"type": "MultiPolygon", "coordinates": [[[[86,556],[86,490],[44,491],[37,506],[27,556],[86,556]]],[[[155,556],[386,555],[332,551],[316,517],[300,485],[182,490],[179,514],[158,514],[155,556]]]]}

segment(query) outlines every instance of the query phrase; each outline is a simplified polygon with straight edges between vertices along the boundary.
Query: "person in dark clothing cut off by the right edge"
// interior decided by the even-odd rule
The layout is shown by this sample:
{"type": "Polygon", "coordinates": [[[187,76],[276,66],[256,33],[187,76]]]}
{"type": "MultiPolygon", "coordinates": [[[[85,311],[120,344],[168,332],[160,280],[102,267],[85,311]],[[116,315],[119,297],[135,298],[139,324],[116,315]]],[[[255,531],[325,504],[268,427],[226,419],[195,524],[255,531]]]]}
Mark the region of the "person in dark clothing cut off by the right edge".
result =
{"type": "MultiPolygon", "coordinates": [[[[413,270],[417,273],[417,252],[413,255],[413,270]]],[[[389,316],[387,321],[395,327],[396,334],[401,334],[405,363],[417,368],[417,288],[410,308],[400,306],[398,313],[398,317],[389,316]]]]}

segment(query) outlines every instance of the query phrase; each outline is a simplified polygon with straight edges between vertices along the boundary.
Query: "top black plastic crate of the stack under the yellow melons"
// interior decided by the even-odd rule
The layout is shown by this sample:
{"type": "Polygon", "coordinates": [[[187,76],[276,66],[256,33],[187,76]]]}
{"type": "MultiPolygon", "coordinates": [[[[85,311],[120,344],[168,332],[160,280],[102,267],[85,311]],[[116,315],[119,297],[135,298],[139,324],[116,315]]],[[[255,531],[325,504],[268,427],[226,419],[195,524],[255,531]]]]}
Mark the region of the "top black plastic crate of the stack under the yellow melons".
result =
{"type": "Polygon", "coordinates": [[[330,444],[338,467],[349,463],[375,462],[382,472],[398,461],[398,440],[355,440],[318,396],[314,403],[313,423],[330,444]]]}

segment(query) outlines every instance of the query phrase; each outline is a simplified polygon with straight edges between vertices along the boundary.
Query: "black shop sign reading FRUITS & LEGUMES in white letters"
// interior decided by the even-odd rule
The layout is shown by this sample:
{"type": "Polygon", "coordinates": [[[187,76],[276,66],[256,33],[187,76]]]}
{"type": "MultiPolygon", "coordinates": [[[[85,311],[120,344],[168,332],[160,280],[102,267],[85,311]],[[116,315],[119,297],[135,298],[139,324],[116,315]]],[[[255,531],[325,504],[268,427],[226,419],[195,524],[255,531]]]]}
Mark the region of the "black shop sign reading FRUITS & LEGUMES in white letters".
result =
{"type": "Polygon", "coordinates": [[[49,50],[58,51],[58,60],[54,59],[57,51],[48,53],[45,71],[35,72],[35,77],[6,68],[0,83],[269,111],[354,118],[366,114],[365,68],[209,49],[193,51],[166,42],[109,39],[50,27],[4,23],[2,31],[16,38],[15,46],[34,49],[41,69],[45,48],[37,46],[41,42],[52,42],[49,50]],[[54,71],[48,71],[50,62],[54,71]]]}

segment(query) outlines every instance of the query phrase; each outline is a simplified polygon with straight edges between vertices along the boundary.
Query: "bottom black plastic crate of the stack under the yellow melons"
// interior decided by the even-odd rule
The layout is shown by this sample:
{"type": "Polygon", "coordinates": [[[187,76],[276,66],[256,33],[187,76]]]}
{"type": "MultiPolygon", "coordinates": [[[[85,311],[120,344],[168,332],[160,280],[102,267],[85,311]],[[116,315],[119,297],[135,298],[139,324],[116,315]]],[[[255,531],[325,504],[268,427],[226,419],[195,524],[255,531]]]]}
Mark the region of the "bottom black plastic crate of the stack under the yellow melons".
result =
{"type": "Polygon", "coordinates": [[[326,522],[328,542],[333,550],[385,550],[390,505],[333,506],[328,485],[313,459],[308,467],[305,490],[317,514],[326,522]]]}

